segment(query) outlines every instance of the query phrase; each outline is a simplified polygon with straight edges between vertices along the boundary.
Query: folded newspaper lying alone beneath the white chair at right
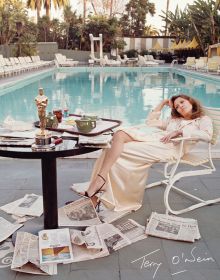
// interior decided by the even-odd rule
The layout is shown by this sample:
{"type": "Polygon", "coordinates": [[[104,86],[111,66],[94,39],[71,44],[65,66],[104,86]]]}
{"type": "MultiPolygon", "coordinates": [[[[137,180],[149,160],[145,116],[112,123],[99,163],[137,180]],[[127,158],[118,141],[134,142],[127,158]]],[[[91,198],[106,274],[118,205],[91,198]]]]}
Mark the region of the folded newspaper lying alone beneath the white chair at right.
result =
{"type": "Polygon", "coordinates": [[[161,238],[194,242],[201,238],[197,220],[153,212],[146,234],[161,238]]]}

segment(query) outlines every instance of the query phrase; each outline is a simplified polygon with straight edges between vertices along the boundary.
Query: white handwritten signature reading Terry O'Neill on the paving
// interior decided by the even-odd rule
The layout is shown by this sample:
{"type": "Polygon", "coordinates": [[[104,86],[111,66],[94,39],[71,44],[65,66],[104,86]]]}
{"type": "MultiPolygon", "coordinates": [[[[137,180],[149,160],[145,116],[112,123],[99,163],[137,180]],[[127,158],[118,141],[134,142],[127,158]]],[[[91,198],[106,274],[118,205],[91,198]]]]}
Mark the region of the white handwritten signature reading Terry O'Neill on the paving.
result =
{"type": "MultiPolygon", "coordinates": [[[[148,270],[151,270],[153,271],[153,279],[156,277],[158,271],[159,271],[159,268],[163,265],[162,262],[155,262],[155,261],[152,261],[151,260],[151,256],[157,252],[159,252],[160,249],[157,249],[157,250],[154,250],[140,258],[137,258],[133,261],[131,261],[131,263],[136,263],[136,262],[139,262],[140,264],[140,269],[148,269],[148,270]]],[[[172,257],[171,259],[171,263],[173,266],[176,266],[176,265],[181,265],[183,263],[202,263],[202,262],[215,262],[215,260],[212,258],[212,257],[206,257],[206,256],[203,256],[203,257],[200,257],[200,256],[196,256],[196,246],[193,247],[189,253],[189,256],[186,256],[184,253],[181,253],[180,255],[175,255],[172,257]]],[[[206,255],[207,253],[205,253],[206,255]]],[[[184,270],[180,270],[180,271],[177,271],[177,272],[174,272],[172,273],[171,275],[177,275],[177,274],[180,274],[180,273],[183,273],[183,272],[186,272],[187,270],[184,269],[184,270]]]]}

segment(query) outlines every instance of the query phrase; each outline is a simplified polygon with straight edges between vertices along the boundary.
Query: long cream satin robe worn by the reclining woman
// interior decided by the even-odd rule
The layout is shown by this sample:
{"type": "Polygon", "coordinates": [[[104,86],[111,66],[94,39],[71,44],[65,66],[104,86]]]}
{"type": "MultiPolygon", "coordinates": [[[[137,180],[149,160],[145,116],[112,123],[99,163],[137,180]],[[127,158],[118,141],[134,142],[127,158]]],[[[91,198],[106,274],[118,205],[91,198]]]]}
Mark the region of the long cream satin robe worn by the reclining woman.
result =
{"type": "MultiPolygon", "coordinates": [[[[195,120],[172,119],[159,120],[160,112],[149,114],[147,124],[164,131],[143,134],[136,129],[119,129],[130,135],[134,141],[124,144],[120,157],[113,164],[106,182],[106,191],[102,202],[114,211],[137,210],[142,205],[149,167],[156,162],[167,162],[177,158],[179,145],[160,142],[163,135],[177,129],[183,130],[183,136],[196,137],[208,141],[212,137],[212,121],[204,116],[195,120]]],[[[188,151],[195,141],[185,147],[188,151]]],[[[104,160],[106,150],[97,159],[91,180],[97,176],[104,160]]]]}

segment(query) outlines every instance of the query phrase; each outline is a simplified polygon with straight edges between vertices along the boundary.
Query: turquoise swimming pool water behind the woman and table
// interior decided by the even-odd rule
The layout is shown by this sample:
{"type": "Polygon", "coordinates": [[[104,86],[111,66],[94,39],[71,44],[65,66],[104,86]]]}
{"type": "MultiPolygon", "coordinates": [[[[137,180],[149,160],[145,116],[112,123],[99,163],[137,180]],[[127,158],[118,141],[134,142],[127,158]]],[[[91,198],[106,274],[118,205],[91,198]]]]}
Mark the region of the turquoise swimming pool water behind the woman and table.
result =
{"type": "Polygon", "coordinates": [[[202,104],[220,107],[220,80],[209,81],[173,69],[87,68],[53,72],[13,90],[0,90],[0,122],[11,116],[16,120],[34,121],[34,99],[38,88],[48,96],[47,112],[68,107],[70,112],[83,111],[100,117],[120,119],[125,125],[143,123],[148,112],[163,98],[184,93],[202,104]]]}

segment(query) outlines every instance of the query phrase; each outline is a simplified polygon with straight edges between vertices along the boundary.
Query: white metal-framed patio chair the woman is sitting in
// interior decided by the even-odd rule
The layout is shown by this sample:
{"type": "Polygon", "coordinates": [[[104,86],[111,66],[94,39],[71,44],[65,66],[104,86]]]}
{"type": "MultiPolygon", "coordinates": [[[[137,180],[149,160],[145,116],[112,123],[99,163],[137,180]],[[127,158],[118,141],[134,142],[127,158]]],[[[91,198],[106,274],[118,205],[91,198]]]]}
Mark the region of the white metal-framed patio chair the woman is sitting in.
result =
{"type": "MultiPolygon", "coordinates": [[[[165,192],[164,192],[164,204],[165,204],[165,208],[166,208],[166,214],[172,213],[174,215],[179,215],[179,214],[182,214],[182,213],[185,213],[188,211],[192,211],[192,210],[202,207],[202,206],[220,202],[220,198],[204,200],[196,195],[186,192],[183,189],[180,189],[180,187],[174,186],[174,184],[177,181],[181,180],[181,178],[186,178],[189,176],[207,175],[207,174],[212,174],[214,171],[216,171],[215,166],[212,161],[211,146],[216,144],[219,130],[220,130],[220,109],[219,108],[205,108],[205,111],[206,111],[206,114],[208,116],[210,116],[213,120],[214,132],[213,132],[213,137],[212,137],[211,141],[207,143],[207,150],[204,151],[204,154],[197,155],[193,152],[189,152],[181,157],[183,147],[184,147],[184,142],[192,141],[195,139],[179,138],[179,140],[181,141],[180,150],[179,150],[179,158],[176,161],[167,162],[165,164],[164,172],[163,172],[165,179],[146,186],[146,189],[148,189],[148,188],[152,188],[155,186],[165,184],[166,188],[165,188],[165,192]],[[190,170],[179,171],[179,167],[181,166],[181,164],[190,165],[190,170]],[[181,210],[173,210],[171,208],[170,202],[169,202],[169,195],[172,190],[178,192],[181,195],[188,197],[191,200],[195,200],[196,203],[189,207],[181,209],[181,210]]],[[[179,141],[179,140],[176,139],[175,141],[179,141]]]]}

